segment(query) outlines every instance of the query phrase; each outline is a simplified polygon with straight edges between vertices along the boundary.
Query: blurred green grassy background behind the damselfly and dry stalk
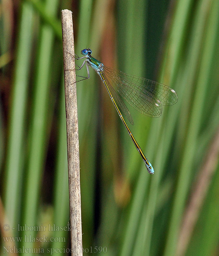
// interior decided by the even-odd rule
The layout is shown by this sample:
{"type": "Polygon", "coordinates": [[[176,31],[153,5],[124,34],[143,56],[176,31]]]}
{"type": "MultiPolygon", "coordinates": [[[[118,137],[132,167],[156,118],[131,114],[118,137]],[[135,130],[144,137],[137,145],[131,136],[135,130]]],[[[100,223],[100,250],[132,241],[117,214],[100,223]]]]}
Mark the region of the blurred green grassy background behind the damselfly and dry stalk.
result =
{"type": "Polygon", "coordinates": [[[69,255],[62,9],[78,55],[178,94],[129,108],[150,176],[97,74],[77,84],[84,255],[219,255],[218,0],[0,1],[0,255],[69,255]]]}

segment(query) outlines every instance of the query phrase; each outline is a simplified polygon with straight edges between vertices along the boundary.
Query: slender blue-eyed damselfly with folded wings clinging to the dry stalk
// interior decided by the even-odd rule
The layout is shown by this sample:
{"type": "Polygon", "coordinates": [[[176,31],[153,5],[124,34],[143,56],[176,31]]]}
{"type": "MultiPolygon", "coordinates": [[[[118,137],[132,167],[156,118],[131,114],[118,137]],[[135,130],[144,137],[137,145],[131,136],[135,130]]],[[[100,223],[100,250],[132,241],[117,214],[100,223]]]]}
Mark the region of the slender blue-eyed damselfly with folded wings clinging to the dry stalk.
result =
{"type": "Polygon", "coordinates": [[[145,162],[147,171],[150,174],[154,174],[154,168],[145,157],[145,154],[141,150],[141,147],[135,140],[122,116],[123,113],[127,117],[128,121],[130,121],[132,125],[134,124],[131,114],[122,99],[120,99],[120,96],[142,114],[150,117],[160,117],[162,113],[162,106],[173,105],[177,102],[177,93],[172,88],[164,84],[134,75],[127,75],[118,69],[106,67],[103,63],[91,56],[91,49],[83,49],[81,54],[84,56],[76,59],[80,60],[85,58],[85,60],[78,70],[86,64],[88,77],[84,79],[90,78],[89,66],[91,66],[100,76],[112,102],[114,103],[119,117],[123,121],[123,124],[132,139],[132,142],[135,144],[135,147],[145,162]],[[120,112],[119,108],[122,112],[120,112]]]}

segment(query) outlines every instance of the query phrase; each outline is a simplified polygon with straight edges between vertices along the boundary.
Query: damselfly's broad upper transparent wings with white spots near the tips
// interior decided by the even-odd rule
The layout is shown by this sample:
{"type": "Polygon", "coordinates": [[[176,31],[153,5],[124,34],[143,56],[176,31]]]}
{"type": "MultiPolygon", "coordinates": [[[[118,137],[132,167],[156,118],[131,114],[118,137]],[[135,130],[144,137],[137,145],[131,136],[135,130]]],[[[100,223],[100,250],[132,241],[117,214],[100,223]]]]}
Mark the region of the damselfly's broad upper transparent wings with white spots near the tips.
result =
{"type": "Polygon", "coordinates": [[[160,117],[162,105],[173,105],[178,100],[177,93],[165,84],[106,66],[102,73],[133,108],[146,116],[160,117]]]}

